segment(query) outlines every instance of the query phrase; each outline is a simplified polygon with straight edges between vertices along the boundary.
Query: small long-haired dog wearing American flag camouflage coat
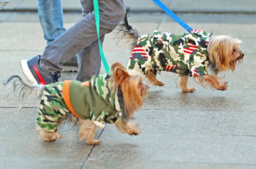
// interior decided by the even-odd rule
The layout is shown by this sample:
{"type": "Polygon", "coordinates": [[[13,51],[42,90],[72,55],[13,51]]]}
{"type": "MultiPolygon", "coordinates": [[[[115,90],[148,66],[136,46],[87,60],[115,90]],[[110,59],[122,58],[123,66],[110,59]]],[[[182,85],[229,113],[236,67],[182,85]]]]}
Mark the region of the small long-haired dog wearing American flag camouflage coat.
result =
{"type": "Polygon", "coordinates": [[[132,41],[133,52],[128,69],[143,73],[153,85],[158,86],[164,84],[156,79],[157,73],[178,73],[177,87],[181,87],[183,92],[195,90],[188,88],[189,76],[204,88],[209,85],[211,89],[227,89],[227,82],[216,75],[221,71],[234,71],[236,64],[242,62],[244,54],[240,50],[240,39],[212,36],[203,30],[184,34],[155,30],[153,34],[139,36],[137,30],[128,24],[127,14],[128,10],[116,28],[116,38],[132,41]],[[214,75],[208,74],[208,68],[214,75]]]}

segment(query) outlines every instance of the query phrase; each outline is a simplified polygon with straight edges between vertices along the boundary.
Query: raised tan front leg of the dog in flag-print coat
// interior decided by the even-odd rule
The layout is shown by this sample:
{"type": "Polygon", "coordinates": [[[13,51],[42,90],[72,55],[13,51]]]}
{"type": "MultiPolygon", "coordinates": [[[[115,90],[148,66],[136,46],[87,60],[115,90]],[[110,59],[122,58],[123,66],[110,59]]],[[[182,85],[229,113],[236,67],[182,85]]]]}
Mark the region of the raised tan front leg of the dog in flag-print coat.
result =
{"type": "Polygon", "coordinates": [[[205,76],[194,76],[195,82],[202,85],[202,87],[206,87],[206,85],[210,85],[211,89],[217,90],[226,90],[228,82],[222,81],[223,77],[216,77],[213,75],[205,75],[205,76]]]}

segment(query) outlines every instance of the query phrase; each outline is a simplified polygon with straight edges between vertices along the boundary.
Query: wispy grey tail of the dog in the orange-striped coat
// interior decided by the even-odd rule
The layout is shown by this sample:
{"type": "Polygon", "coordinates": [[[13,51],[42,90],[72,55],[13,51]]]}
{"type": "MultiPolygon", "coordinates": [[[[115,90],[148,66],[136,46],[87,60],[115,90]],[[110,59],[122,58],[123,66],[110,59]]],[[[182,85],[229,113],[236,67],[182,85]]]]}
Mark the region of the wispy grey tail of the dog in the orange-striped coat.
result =
{"type": "Polygon", "coordinates": [[[28,85],[18,75],[12,75],[3,82],[3,85],[11,86],[22,103],[33,95],[41,98],[44,91],[44,85],[28,85]]]}

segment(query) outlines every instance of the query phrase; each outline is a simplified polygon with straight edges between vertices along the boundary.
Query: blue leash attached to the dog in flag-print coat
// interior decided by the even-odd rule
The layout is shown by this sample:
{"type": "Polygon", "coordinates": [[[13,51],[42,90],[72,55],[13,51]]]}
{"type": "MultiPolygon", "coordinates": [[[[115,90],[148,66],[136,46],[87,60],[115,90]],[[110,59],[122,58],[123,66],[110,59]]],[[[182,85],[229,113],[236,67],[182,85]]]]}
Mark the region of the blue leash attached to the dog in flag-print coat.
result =
{"type": "Polygon", "coordinates": [[[189,25],[184,23],[184,21],[182,21],[175,13],[173,13],[168,7],[166,7],[160,0],[153,0],[153,1],[161,9],[163,9],[163,11],[165,11],[168,15],[170,15],[177,23],[179,23],[179,25],[184,27],[185,30],[187,30],[189,33],[192,32],[193,29],[189,25]]]}

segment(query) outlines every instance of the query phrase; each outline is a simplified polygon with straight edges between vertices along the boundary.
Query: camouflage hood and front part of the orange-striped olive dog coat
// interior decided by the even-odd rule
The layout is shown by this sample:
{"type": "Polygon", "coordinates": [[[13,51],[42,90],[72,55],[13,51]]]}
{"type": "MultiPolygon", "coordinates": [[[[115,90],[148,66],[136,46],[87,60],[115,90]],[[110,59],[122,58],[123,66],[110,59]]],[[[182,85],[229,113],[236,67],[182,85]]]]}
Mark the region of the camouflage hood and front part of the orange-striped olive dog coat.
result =
{"type": "Polygon", "coordinates": [[[98,121],[102,124],[114,123],[120,118],[121,105],[119,103],[118,91],[111,91],[111,84],[108,82],[110,76],[108,74],[100,74],[91,78],[91,87],[95,89],[98,95],[105,100],[105,102],[115,109],[114,112],[105,111],[91,111],[90,119],[98,121]]]}

